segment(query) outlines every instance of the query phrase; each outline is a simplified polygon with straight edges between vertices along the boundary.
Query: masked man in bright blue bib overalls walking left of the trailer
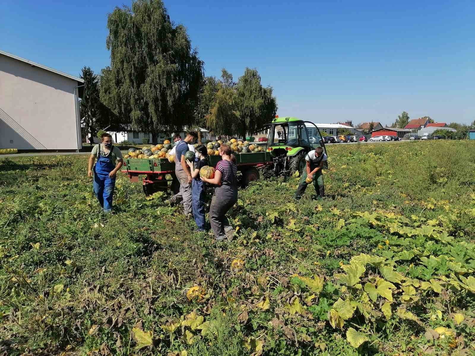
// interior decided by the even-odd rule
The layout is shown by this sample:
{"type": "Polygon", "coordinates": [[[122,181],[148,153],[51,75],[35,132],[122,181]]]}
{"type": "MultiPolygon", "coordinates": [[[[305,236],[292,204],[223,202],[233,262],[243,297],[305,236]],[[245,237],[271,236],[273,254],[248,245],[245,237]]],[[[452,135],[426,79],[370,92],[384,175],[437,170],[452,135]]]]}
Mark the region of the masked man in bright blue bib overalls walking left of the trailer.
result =
{"type": "Polygon", "coordinates": [[[89,166],[87,175],[93,176],[92,167],[94,166],[93,188],[99,204],[104,212],[110,213],[112,210],[112,197],[114,195],[115,175],[123,165],[122,153],[118,147],[112,145],[112,136],[103,133],[102,143],[94,146],[89,157],[89,166]],[[117,163],[116,163],[117,161],[117,163]]]}

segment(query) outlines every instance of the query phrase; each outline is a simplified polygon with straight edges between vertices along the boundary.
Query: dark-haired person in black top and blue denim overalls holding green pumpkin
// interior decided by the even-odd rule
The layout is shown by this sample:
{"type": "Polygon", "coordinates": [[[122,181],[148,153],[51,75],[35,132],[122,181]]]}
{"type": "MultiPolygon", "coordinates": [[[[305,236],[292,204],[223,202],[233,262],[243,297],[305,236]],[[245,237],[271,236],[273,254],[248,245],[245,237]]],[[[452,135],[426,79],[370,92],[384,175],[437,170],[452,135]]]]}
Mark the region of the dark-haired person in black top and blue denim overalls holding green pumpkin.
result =
{"type": "Polygon", "coordinates": [[[193,217],[198,226],[199,232],[206,231],[205,227],[205,189],[204,182],[199,177],[199,170],[208,166],[208,149],[205,145],[199,145],[196,148],[198,158],[194,162],[187,161],[191,171],[191,206],[193,210],[193,217]]]}

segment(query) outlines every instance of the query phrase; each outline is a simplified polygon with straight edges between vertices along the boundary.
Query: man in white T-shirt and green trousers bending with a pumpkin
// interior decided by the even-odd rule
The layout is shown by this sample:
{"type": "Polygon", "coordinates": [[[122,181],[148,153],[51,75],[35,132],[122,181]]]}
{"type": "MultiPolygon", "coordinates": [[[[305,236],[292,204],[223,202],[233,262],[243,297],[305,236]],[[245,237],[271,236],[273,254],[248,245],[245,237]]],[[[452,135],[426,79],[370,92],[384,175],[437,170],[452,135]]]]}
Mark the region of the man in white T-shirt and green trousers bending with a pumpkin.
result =
{"type": "Polygon", "coordinates": [[[305,161],[307,162],[306,169],[302,172],[300,184],[295,192],[295,199],[300,199],[307,186],[311,183],[307,183],[307,177],[309,178],[308,180],[313,180],[317,197],[325,196],[322,167],[326,160],[327,156],[321,147],[317,147],[315,150],[307,153],[305,156],[305,161]]]}

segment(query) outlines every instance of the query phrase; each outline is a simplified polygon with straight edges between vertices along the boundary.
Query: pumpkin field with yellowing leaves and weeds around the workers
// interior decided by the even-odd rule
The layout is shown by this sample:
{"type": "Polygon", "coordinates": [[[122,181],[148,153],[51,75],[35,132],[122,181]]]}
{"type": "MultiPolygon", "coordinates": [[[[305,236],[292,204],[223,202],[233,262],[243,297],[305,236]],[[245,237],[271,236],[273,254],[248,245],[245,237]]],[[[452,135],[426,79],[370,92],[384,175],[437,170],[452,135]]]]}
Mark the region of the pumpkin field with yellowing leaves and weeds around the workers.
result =
{"type": "Polygon", "coordinates": [[[104,215],[87,156],[0,159],[0,355],[474,355],[475,142],[327,151],[325,198],[261,178],[218,243],[123,173],[104,215]]]}

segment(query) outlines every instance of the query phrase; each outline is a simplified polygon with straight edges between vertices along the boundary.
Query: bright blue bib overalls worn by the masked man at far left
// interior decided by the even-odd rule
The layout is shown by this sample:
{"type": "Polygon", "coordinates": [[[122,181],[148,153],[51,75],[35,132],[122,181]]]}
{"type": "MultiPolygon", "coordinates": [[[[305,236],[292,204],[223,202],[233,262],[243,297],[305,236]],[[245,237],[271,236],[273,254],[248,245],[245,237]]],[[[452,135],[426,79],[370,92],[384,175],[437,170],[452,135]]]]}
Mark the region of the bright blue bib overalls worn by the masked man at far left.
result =
{"type": "Polygon", "coordinates": [[[97,147],[97,161],[94,166],[94,193],[106,213],[112,210],[112,197],[115,187],[115,177],[109,177],[109,173],[115,168],[112,163],[112,149],[113,147],[111,147],[109,156],[104,156],[99,144],[97,147]]]}

